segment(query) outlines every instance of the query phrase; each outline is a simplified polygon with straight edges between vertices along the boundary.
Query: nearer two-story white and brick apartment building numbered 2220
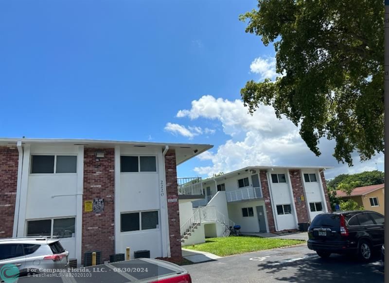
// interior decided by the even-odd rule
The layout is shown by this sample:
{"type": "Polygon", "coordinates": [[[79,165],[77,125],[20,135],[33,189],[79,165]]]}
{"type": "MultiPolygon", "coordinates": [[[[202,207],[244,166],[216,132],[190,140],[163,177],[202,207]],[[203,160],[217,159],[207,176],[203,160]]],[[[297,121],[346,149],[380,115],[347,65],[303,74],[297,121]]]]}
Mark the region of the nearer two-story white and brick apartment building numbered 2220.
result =
{"type": "Polygon", "coordinates": [[[57,236],[79,264],[126,247],[181,258],[176,166],[211,147],[0,139],[0,237],[57,236]]]}

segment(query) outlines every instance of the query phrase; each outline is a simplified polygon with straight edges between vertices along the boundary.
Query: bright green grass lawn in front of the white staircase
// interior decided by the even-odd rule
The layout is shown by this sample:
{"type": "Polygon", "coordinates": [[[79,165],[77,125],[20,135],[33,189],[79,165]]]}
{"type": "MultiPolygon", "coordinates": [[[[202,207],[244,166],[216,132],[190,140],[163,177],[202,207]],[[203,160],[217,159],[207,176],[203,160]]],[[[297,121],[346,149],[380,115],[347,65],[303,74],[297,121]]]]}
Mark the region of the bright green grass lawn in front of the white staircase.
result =
{"type": "Polygon", "coordinates": [[[226,256],[269,248],[288,247],[303,243],[305,243],[305,241],[302,240],[283,240],[255,236],[239,236],[227,238],[207,238],[203,244],[185,246],[183,248],[211,252],[218,256],[226,256]]]}

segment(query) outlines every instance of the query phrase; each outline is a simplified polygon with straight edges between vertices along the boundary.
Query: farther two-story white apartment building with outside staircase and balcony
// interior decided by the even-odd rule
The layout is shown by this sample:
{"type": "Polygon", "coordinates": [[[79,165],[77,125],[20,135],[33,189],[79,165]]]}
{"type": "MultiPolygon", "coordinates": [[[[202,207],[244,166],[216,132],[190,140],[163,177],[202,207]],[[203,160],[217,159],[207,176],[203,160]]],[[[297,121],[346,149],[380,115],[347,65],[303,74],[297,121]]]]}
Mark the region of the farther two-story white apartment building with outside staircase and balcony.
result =
{"type": "Polygon", "coordinates": [[[328,168],[249,166],[202,180],[205,198],[180,203],[183,245],[221,236],[224,224],[254,233],[299,229],[331,211],[324,178],[328,168]]]}

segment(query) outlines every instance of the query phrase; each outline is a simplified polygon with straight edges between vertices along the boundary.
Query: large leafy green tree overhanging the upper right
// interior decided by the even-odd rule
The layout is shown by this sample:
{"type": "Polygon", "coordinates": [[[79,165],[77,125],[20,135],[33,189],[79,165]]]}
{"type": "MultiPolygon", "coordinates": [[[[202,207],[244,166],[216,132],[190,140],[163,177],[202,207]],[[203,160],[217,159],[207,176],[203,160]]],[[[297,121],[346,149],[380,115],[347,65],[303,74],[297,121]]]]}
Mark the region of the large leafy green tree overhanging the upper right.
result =
{"type": "Polygon", "coordinates": [[[240,16],[246,32],[276,52],[275,81],[249,81],[241,90],[252,114],[272,105],[320,155],[322,137],[334,157],[353,164],[384,150],[384,1],[258,0],[240,16]]]}

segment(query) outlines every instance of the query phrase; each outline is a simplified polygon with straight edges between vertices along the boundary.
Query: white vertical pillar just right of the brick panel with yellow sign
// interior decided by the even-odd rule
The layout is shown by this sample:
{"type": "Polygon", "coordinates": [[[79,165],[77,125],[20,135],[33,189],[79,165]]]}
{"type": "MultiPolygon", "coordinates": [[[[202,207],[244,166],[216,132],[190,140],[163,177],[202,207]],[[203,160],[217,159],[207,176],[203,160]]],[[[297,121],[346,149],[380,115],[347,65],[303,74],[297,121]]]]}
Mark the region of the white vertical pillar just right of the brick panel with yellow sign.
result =
{"type": "Polygon", "coordinates": [[[115,145],[115,253],[121,253],[120,241],[120,145],[115,145]]]}

